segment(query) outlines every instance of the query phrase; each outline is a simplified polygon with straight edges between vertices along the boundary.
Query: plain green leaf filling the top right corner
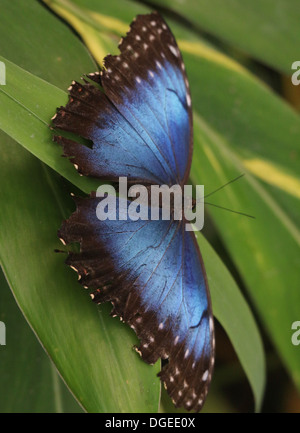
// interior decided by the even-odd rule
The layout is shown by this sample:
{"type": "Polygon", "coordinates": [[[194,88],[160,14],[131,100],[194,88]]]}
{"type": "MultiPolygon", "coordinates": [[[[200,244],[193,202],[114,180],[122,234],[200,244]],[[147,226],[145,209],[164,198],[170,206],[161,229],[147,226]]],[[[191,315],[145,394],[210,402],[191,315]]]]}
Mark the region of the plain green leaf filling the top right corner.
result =
{"type": "Polygon", "coordinates": [[[291,65],[298,60],[298,0],[159,0],[151,4],[177,12],[199,31],[286,74],[291,75],[291,65]]]}

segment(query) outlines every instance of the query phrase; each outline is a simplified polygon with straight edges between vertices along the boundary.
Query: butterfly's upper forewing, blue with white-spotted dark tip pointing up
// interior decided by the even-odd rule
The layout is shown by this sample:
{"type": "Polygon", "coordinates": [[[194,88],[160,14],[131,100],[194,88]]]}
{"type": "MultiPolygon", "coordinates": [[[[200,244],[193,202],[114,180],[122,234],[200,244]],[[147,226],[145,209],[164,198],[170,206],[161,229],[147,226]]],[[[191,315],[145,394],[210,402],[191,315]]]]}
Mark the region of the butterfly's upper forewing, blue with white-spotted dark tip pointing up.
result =
{"type": "Polygon", "coordinates": [[[119,48],[119,56],[105,58],[105,93],[149,147],[159,152],[171,177],[165,183],[182,183],[190,168],[192,114],[175,38],[158,14],[140,15],[119,48]]]}

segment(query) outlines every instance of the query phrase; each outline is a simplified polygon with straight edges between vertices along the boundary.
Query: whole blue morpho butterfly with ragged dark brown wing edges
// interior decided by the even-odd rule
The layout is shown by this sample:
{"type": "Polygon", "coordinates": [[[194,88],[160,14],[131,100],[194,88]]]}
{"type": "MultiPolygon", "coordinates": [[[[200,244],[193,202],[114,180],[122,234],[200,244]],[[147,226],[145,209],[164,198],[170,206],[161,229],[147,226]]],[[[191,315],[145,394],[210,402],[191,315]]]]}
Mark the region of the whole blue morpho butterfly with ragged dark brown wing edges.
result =
{"type": "MultiPolygon", "coordinates": [[[[53,117],[56,128],[92,147],[56,136],[80,174],[145,186],[183,186],[192,159],[192,109],[181,53],[161,16],[138,16],[91,82],[73,82],[69,102],[53,117]],[[93,83],[92,83],[93,81],[93,83]]],[[[199,411],[214,364],[214,326],[200,251],[185,221],[100,221],[95,194],[77,198],[63,223],[63,243],[80,243],[67,264],[92,289],[96,303],[111,301],[136,332],[137,351],[159,373],[176,407],[199,411]]],[[[120,205],[120,200],[118,205],[120,205]]]]}

